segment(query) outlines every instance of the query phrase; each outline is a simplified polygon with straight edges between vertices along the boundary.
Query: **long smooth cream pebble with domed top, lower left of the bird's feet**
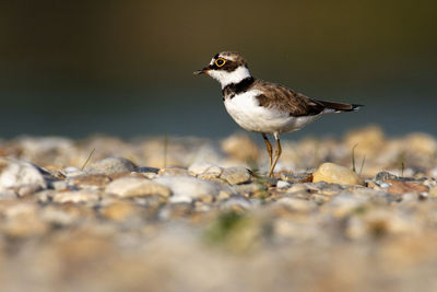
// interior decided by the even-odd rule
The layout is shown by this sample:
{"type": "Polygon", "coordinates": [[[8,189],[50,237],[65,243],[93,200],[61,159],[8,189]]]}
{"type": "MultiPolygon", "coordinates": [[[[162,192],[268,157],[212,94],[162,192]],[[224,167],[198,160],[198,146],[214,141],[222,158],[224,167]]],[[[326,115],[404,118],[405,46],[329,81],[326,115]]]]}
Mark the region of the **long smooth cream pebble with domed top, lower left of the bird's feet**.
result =
{"type": "Polygon", "coordinates": [[[115,194],[120,197],[142,197],[142,196],[163,196],[169,197],[172,190],[156,180],[139,177],[121,177],[106,187],[106,192],[115,194]]]}

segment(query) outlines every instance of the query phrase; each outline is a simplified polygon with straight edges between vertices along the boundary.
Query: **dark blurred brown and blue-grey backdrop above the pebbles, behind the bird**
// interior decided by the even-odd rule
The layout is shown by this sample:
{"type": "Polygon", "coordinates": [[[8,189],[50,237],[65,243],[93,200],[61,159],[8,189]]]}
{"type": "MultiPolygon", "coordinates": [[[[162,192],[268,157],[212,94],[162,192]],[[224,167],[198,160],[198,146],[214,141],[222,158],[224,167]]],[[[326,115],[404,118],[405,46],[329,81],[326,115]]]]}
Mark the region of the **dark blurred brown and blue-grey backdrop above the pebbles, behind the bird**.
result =
{"type": "Polygon", "coordinates": [[[365,104],[296,132],[437,135],[435,1],[1,1],[0,138],[224,137],[221,50],[255,77],[365,104]]]}

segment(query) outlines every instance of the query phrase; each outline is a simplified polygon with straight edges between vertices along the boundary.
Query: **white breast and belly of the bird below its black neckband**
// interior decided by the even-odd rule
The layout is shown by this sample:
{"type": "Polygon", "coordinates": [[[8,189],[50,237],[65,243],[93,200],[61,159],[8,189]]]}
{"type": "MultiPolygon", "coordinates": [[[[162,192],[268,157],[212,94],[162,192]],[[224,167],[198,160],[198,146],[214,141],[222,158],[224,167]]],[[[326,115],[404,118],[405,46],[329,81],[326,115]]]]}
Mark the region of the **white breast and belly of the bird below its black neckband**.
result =
{"type": "Polygon", "coordinates": [[[317,116],[291,117],[288,113],[259,105],[258,90],[248,91],[225,100],[225,107],[233,119],[244,129],[264,133],[283,133],[300,129],[317,116]]]}

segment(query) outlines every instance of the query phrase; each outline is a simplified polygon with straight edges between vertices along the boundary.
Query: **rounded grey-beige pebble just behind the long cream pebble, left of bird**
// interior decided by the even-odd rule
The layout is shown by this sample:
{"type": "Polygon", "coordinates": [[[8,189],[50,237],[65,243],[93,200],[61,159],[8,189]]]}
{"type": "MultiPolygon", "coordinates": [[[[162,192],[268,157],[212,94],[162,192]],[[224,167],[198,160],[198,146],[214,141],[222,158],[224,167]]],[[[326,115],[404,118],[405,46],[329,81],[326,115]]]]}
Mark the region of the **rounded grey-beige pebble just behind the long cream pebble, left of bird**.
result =
{"type": "Polygon", "coordinates": [[[114,175],[120,173],[130,173],[135,168],[137,165],[130,160],[123,157],[108,157],[87,164],[84,171],[87,174],[114,175]]]}

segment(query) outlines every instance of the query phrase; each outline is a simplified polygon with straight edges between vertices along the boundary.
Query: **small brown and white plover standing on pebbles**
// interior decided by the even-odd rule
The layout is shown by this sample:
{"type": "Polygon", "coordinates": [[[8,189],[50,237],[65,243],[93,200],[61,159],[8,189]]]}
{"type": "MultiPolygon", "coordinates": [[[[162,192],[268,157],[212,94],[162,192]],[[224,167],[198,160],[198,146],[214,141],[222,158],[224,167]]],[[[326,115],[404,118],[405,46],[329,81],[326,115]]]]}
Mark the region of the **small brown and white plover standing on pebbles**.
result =
{"type": "Polygon", "coordinates": [[[227,113],[243,129],[259,132],[270,159],[268,176],[272,177],[281,156],[280,135],[299,130],[319,117],[342,112],[356,112],[363,105],[319,101],[286,86],[253,78],[246,59],[235,51],[216,54],[194,75],[208,74],[222,86],[227,113]],[[273,135],[274,150],[267,135],[273,135]]]}

